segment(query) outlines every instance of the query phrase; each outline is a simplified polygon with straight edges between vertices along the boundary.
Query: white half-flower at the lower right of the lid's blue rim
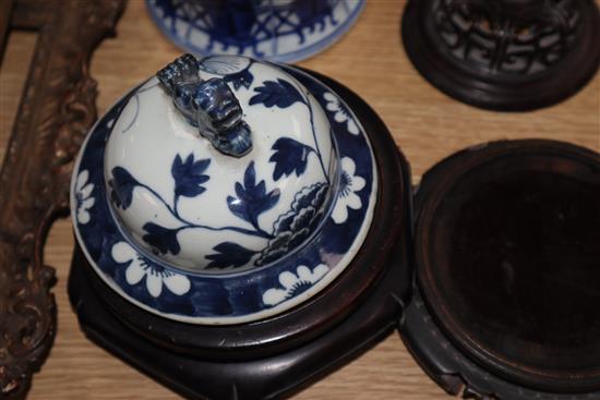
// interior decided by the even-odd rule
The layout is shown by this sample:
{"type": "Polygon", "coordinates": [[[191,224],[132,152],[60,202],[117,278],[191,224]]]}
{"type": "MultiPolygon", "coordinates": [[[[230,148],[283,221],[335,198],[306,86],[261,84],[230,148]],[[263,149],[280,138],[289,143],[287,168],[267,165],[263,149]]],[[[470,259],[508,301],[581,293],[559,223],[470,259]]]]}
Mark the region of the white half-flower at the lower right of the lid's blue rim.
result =
{"type": "Polygon", "coordinates": [[[296,269],[296,274],[284,271],[279,274],[279,283],[283,289],[268,289],[263,293],[263,303],[266,305],[277,305],[288,299],[296,298],[319,282],[328,270],[329,268],[325,264],[320,264],[312,271],[303,265],[296,269]]]}

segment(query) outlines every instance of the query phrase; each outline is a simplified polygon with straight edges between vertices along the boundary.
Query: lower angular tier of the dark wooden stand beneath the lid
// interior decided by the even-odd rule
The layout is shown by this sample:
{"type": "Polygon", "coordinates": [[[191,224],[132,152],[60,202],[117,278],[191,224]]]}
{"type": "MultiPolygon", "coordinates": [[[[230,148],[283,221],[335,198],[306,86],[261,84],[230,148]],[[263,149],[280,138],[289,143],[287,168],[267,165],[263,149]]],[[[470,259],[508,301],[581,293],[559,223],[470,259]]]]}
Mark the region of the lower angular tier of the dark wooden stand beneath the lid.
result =
{"type": "Polygon", "coordinates": [[[191,399],[290,396],[386,338],[396,329],[404,305],[400,284],[397,284],[403,281],[403,274],[397,267],[399,264],[392,262],[391,266],[396,266],[387,269],[372,294],[344,322],[313,340],[265,357],[206,360],[157,346],[122,324],[91,286],[86,264],[77,249],[69,278],[69,293],[86,336],[133,367],[191,399]]]}

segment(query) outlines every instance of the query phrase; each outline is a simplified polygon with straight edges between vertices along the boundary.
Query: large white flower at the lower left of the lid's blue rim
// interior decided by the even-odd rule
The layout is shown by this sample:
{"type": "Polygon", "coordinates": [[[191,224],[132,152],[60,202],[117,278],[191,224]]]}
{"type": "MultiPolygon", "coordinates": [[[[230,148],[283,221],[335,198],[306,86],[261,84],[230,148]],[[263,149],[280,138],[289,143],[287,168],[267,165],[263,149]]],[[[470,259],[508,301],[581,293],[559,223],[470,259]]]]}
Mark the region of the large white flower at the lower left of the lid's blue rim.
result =
{"type": "Polygon", "coordinates": [[[163,283],[169,291],[183,295],[190,291],[190,280],[183,275],[167,270],[137,253],[125,242],[112,246],[112,258],[120,264],[129,263],[125,269],[125,280],[129,284],[137,284],[146,278],[146,289],[153,298],[163,292],[163,283]]]}

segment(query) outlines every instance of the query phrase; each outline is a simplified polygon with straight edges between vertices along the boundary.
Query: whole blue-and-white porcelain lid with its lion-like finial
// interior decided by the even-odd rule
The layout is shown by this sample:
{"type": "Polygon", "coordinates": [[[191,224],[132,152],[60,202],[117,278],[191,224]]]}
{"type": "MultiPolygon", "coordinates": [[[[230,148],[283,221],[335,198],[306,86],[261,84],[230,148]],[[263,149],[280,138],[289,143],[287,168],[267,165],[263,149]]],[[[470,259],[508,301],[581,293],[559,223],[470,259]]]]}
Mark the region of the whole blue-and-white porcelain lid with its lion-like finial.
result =
{"type": "Polygon", "coordinates": [[[197,324],[264,318],[322,290],[371,223],[360,123],[323,84],[184,56],[92,130],[72,181],[80,245],[117,292],[197,324]]]}

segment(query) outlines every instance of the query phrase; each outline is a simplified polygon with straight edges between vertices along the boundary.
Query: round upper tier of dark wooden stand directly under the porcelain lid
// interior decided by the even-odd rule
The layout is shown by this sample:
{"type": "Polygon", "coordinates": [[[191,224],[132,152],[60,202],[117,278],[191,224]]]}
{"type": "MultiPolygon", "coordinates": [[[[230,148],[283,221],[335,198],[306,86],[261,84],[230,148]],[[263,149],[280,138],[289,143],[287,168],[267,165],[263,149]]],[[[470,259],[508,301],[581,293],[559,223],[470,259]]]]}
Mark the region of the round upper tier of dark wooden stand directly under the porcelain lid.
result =
{"type": "MultiPolygon", "coordinates": [[[[373,220],[382,221],[377,227],[384,229],[373,231],[374,226],[371,225],[370,232],[352,263],[321,292],[280,314],[242,325],[212,326],[167,319],[136,307],[108,288],[104,281],[96,279],[98,281],[93,282],[95,287],[107,287],[104,290],[106,292],[104,299],[112,303],[109,304],[112,312],[120,314],[119,317],[125,319],[129,325],[133,325],[137,331],[151,336],[155,342],[188,354],[206,355],[208,351],[209,355],[211,350],[218,349],[220,351],[217,354],[218,357],[248,357],[249,354],[256,353],[265,356],[271,351],[277,352],[283,348],[304,342],[339,323],[361,304],[368,293],[371,293],[371,288],[383,271],[392,268],[392,265],[396,266],[396,263],[388,263],[392,250],[398,247],[398,242],[393,237],[400,235],[403,234],[400,232],[409,229],[409,219],[405,216],[407,209],[397,201],[398,197],[410,196],[408,165],[398,154],[381,119],[364,101],[331,78],[317,73],[307,73],[317,76],[347,101],[350,108],[356,110],[357,119],[369,134],[373,151],[377,154],[375,158],[377,182],[382,182],[382,185],[388,189],[384,190],[384,193],[377,191],[377,207],[373,215],[373,220]],[[384,217],[399,215],[399,213],[403,215],[398,218],[384,217]],[[152,331],[147,330],[148,326],[153,327],[152,331]],[[308,336],[307,332],[309,332],[308,336]],[[177,336],[177,343],[172,342],[171,336],[177,336]],[[223,338],[227,340],[223,341],[223,338]]],[[[408,254],[404,251],[405,246],[406,243],[403,243],[403,251],[394,256],[401,258],[407,266],[408,254]]],[[[87,260],[87,257],[85,259],[87,260]]],[[[408,298],[408,267],[404,267],[401,274],[406,275],[407,279],[398,291],[405,293],[404,298],[408,298]]],[[[92,276],[96,277],[97,272],[95,271],[92,276]]]]}

